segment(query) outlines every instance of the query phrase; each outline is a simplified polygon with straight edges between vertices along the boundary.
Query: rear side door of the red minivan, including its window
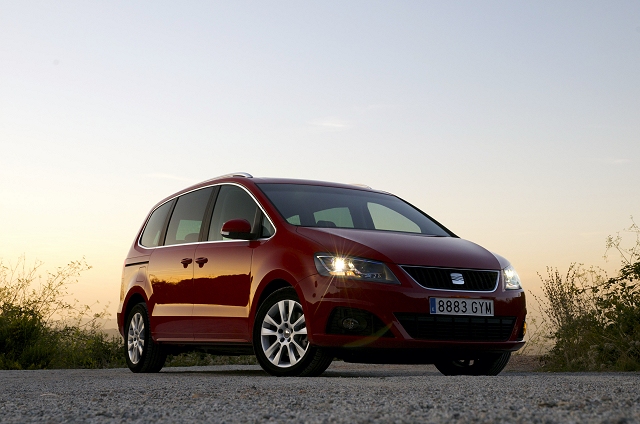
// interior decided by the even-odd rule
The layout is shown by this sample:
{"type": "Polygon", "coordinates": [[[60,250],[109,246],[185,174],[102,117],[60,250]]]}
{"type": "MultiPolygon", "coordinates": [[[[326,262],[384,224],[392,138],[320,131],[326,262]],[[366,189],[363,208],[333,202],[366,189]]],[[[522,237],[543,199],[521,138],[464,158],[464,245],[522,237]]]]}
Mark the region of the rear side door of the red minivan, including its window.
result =
{"type": "Polygon", "coordinates": [[[193,259],[212,190],[195,190],[177,199],[163,246],[151,254],[149,312],[158,341],[193,340],[193,259]]]}

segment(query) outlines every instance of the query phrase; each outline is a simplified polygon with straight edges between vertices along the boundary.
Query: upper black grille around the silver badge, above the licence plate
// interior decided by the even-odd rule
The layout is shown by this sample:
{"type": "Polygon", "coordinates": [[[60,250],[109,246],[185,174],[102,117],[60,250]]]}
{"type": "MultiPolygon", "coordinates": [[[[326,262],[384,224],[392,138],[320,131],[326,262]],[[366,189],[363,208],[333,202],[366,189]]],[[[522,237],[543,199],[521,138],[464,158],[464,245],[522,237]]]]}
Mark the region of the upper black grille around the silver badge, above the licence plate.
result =
{"type": "Polygon", "coordinates": [[[460,291],[493,291],[498,286],[498,271],[476,271],[455,268],[402,267],[418,284],[428,289],[460,291]],[[451,274],[461,274],[463,284],[453,284],[451,274]]]}

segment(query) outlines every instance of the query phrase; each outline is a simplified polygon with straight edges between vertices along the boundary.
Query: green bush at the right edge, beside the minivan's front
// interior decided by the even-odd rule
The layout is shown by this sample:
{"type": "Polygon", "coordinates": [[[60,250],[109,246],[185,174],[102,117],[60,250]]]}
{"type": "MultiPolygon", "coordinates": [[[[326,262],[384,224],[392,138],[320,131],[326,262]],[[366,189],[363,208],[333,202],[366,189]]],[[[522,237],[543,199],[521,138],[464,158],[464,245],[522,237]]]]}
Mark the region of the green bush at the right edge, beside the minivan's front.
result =
{"type": "Polygon", "coordinates": [[[547,269],[538,299],[553,347],[545,368],[558,371],[640,370],[640,228],[630,249],[609,237],[607,251],[619,253],[622,266],[609,278],[597,268],[573,264],[566,275],[547,269]]]}

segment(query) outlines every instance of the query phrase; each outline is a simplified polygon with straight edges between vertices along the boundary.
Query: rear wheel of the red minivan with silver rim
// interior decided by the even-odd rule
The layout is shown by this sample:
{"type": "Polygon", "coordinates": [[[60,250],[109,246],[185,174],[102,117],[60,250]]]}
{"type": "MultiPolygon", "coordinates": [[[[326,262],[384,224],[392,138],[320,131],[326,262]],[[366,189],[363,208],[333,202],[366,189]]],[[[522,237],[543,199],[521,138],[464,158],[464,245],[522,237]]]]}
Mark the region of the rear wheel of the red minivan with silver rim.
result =
{"type": "Polygon", "coordinates": [[[158,372],[167,354],[151,338],[147,305],[138,303],[125,321],[124,357],[133,372],[158,372]]]}

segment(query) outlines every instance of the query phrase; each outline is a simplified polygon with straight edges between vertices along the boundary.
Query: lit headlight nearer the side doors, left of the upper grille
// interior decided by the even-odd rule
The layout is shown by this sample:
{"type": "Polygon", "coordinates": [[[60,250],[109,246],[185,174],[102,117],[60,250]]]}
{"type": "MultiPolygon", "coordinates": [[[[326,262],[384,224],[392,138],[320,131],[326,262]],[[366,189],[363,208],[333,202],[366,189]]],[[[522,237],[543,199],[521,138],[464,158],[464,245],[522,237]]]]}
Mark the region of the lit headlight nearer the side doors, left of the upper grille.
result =
{"type": "Polygon", "coordinates": [[[327,277],[333,276],[375,281],[377,283],[400,284],[396,276],[382,262],[328,253],[316,253],[314,262],[318,273],[327,277]]]}

